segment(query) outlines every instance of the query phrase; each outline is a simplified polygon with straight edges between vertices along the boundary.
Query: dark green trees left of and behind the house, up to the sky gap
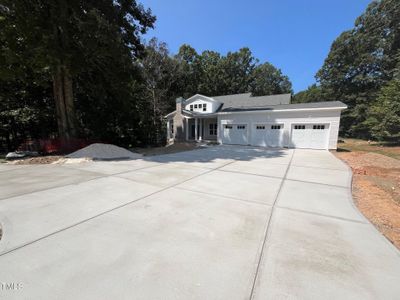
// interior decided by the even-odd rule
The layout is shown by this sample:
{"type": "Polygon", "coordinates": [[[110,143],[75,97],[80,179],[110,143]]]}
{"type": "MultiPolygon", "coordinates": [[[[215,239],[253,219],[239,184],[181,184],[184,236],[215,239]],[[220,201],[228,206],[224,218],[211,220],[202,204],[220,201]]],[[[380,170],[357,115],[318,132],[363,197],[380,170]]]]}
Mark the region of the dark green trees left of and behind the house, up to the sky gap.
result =
{"type": "Polygon", "coordinates": [[[165,140],[175,98],[292,92],[248,48],[222,55],[143,35],[156,17],[133,0],[0,1],[0,143],[79,137],[123,146],[165,140]]]}

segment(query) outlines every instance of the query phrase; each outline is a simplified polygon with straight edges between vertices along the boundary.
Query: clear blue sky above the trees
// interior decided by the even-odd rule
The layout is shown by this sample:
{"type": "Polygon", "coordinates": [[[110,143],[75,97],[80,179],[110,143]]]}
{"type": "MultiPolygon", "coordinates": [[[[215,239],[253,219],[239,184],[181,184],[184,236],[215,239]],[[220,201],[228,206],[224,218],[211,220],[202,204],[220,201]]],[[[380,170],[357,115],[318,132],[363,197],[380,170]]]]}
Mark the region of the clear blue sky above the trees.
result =
{"type": "Polygon", "coordinates": [[[221,54],[248,47],[289,76],[294,92],[315,83],[336,37],[371,0],[139,0],[157,17],[145,39],[221,54]]]}

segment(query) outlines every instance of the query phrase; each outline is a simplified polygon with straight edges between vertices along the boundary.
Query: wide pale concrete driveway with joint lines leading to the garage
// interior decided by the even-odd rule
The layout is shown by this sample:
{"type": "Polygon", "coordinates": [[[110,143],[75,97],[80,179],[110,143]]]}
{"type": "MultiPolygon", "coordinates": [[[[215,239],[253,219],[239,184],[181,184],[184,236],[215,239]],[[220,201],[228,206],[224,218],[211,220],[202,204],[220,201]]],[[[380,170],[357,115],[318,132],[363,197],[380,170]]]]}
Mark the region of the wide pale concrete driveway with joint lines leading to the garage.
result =
{"type": "Polygon", "coordinates": [[[395,299],[400,254],[327,151],[0,165],[0,298],[395,299]]]}

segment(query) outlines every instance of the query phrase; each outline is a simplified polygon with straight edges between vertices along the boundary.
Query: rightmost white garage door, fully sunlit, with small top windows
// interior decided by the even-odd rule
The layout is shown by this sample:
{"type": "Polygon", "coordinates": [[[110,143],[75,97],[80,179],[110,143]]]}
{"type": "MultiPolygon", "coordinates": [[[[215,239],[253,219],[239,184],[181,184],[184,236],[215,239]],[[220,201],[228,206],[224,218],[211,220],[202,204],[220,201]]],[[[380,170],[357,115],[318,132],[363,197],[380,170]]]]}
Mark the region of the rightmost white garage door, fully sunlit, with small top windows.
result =
{"type": "Polygon", "coordinates": [[[293,124],[291,146],[294,148],[327,149],[329,124],[293,124]]]}

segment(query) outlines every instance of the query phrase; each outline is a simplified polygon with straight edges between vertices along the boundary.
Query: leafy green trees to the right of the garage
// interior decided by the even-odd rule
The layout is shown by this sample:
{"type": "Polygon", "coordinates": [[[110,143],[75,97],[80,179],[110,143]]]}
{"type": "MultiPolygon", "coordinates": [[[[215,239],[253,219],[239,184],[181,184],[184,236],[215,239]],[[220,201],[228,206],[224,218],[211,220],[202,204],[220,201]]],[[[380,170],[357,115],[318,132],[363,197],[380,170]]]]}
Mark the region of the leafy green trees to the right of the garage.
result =
{"type": "Polygon", "coordinates": [[[318,84],[295,101],[340,100],[341,133],[400,142],[400,1],[372,1],[332,44],[318,84]]]}

